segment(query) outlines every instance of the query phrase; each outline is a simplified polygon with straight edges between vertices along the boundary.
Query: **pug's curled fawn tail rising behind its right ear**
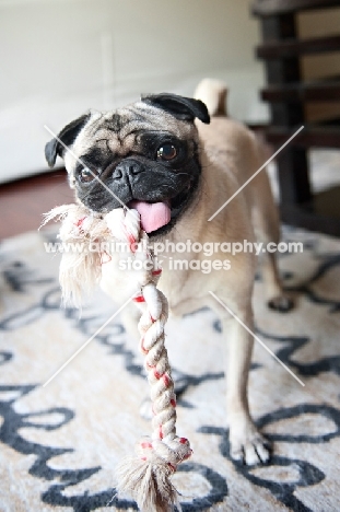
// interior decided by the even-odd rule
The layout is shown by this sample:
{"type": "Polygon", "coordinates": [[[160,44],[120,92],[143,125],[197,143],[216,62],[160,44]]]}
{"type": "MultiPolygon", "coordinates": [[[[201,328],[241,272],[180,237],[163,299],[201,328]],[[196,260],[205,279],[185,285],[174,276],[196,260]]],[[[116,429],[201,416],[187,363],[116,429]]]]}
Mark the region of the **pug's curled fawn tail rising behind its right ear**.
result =
{"type": "Polygon", "coordinates": [[[196,88],[194,97],[206,103],[211,116],[227,116],[227,88],[225,83],[215,79],[203,79],[196,88]]]}

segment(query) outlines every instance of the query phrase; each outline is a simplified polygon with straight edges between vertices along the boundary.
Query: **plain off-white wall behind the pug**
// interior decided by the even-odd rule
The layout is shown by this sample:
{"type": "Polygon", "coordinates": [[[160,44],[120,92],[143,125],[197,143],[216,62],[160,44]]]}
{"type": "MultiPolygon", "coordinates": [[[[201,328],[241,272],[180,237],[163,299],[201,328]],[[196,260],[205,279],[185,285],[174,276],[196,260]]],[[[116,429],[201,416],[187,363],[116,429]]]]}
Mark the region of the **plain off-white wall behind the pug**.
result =
{"type": "Polygon", "coordinates": [[[268,118],[250,0],[0,0],[0,181],[46,168],[49,135],[142,92],[230,85],[230,113],[268,118]]]}

